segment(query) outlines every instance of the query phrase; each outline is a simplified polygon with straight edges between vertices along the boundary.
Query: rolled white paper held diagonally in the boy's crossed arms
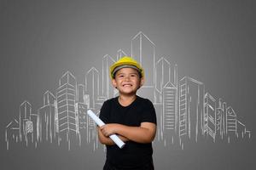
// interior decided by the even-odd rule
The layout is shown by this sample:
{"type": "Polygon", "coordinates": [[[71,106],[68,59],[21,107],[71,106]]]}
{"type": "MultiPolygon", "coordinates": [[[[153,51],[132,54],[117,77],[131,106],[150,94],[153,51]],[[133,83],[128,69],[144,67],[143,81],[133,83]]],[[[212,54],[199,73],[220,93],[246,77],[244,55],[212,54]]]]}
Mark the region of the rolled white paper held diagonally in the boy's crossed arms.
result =
{"type": "MultiPolygon", "coordinates": [[[[105,123],[102,122],[102,120],[98,116],[96,116],[96,114],[93,111],[88,110],[87,114],[90,116],[90,118],[92,118],[94,122],[96,122],[96,124],[99,127],[105,125],[105,123]]],[[[125,143],[121,139],[119,139],[119,137],[116,134],[110,135],[109,138],[112,139],[113,142],[117,144],[120,149],[122,149],[125,146],[125,143]]]]}

